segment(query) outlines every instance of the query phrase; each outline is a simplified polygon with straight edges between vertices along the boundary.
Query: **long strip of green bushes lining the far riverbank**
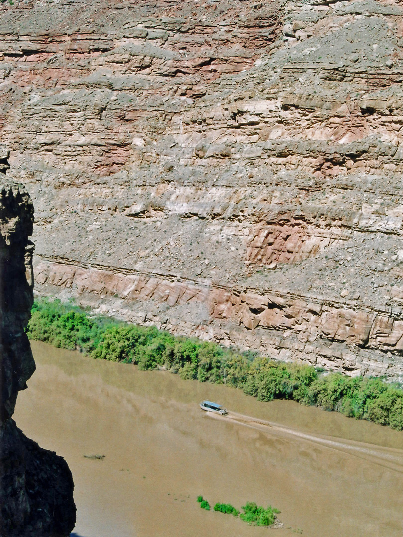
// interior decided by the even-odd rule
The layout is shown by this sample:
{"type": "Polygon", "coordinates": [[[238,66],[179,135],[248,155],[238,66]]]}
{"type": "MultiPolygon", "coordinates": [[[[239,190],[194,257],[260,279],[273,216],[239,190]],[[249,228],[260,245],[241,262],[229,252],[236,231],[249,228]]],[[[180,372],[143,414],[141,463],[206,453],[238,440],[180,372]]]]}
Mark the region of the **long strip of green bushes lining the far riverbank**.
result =
{"type": "Polygon", "coordinates": [[[41,300],[32,308],[31,339],[78,349],[91,358],[164,367],[181,379],[225,383],[260,401],[292,399],[403,429],[403,389],[378,378],[324,374],[312,366],[284,364],[253,352],[239,352],[196,338],[172,336],[146,327],[93,316],[87,311],[41,300]]]}

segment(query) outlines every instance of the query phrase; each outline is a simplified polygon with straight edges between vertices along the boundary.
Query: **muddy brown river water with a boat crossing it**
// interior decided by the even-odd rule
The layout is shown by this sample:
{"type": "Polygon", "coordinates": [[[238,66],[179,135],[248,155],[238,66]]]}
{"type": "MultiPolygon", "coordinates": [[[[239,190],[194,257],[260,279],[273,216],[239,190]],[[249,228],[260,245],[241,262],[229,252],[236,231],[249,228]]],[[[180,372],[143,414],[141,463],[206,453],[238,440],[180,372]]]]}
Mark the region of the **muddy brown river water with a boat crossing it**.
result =
{"type": "Polygon", "coordinates": [[[32,343],[15,419],[73,473],[82,537],[401,537],[403,432],[32,343]],[[227,417],[198,403],[218,401],[227,417]],[[105,455],[103,460],[84,455],[105,455]],[[210,504],[278,507],[248,526],[210,504]]]}

